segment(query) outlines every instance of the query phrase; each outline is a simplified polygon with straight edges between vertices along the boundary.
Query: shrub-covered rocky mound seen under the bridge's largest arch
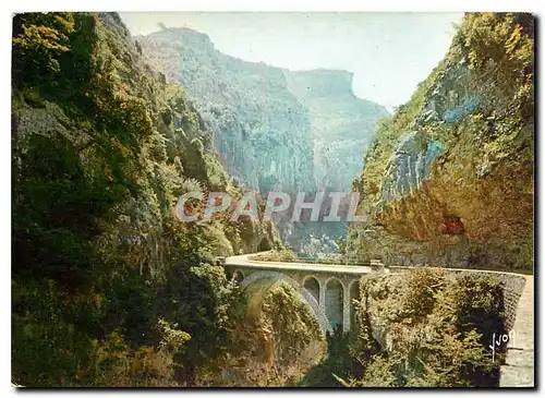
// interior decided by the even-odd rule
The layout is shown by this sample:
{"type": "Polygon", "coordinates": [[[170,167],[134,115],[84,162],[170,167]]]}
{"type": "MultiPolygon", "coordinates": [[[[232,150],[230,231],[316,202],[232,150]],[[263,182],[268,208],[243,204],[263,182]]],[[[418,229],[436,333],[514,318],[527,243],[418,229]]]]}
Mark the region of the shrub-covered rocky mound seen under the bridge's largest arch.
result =
{"type": "Polygon", "coordinates": [[[292,385],[326,351],[308,303],[288,284],[267,278],[244,289],[228,338],[233,349],[210,385],[292,385]]]}

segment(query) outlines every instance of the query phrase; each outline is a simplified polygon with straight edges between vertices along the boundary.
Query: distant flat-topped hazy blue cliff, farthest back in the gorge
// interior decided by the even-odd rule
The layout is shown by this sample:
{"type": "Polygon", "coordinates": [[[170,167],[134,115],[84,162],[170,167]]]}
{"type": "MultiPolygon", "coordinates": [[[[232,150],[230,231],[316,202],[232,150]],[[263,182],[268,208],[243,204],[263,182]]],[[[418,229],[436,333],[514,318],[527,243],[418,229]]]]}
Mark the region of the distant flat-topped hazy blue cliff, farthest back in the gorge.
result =
{"type": "Polygon", "coordinates": [[[349,190],[362,169],[361,154],[375,137],[376,123],[388,111],[353,94],[352,73],[314,70],[284,71],[284,75],[290,92],[308,109],[318,186],[349,190]]]}

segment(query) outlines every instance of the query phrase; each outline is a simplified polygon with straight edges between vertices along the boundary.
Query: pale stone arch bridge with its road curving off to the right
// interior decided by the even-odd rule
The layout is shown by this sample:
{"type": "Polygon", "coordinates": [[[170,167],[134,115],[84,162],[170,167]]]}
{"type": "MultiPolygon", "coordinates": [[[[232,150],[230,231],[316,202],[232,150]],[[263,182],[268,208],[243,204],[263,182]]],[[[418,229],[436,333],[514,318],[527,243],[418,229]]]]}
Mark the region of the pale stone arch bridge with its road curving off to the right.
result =
{"type": "MultiPolygon", "coordinates": [[[[307,263],[263,262],[254,254],[226,258],[226,270],[243,287],[253,282],[284,281],[308,302],[322,330],[340,326],[349,331],[353,324],[354,305],[362,276],[374,273],[375,266],[328,265],[307,263]]],[[[379,267],[380,268],[380,267],[379,267]]],[[[407,267],[389,267],[384,273],[401,272],[407,267]]],[[[441,268],[453,273],[482,273],[504,286],[509,340],[507,362],[500,369],[500,387],[534,386],[534,280],[532,275],[496,270],[441,268]]]]}

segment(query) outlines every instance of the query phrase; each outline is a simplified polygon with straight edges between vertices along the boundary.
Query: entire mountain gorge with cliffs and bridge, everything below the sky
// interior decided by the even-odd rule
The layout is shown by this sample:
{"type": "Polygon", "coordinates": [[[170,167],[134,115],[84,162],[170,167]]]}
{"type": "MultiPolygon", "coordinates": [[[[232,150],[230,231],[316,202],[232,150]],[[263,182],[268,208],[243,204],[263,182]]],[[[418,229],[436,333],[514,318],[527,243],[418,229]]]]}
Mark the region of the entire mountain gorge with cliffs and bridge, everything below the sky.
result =
{"type": "Polygon", "coordinates": [[[468,13],[389,114],[351,72],[16,14],[12,383],[497,387],[518,327],[533,385],[533,24],[468,13]],[[356,193],[363,220],[264,218],[271,191],[356,193]],[[322,237],[335,262],[295,255],[322,237]]]}

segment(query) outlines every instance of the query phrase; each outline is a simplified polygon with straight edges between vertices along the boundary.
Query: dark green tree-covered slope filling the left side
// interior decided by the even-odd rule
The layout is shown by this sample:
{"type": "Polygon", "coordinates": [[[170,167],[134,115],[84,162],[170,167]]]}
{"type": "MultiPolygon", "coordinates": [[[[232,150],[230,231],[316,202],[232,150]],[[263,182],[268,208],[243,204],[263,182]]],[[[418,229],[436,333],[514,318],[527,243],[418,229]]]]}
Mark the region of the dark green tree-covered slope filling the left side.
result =
{"type": "Polygon", "coordinates": [[[201,117],[117,14],[16,15],[12,87],[13,382],[203,383],[237,300],[215,256],[274,237],[173,216],[187,191],[241,196],[201,117]]]}

